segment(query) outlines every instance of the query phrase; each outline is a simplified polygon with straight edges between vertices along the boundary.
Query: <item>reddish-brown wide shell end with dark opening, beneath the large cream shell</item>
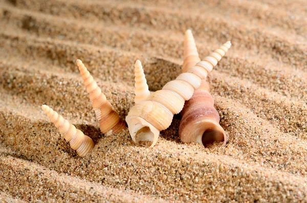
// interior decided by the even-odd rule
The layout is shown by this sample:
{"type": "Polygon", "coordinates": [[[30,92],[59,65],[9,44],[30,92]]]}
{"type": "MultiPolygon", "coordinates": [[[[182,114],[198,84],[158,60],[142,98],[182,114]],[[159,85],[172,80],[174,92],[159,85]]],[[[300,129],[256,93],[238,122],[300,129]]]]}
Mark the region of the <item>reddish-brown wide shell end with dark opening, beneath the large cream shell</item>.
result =
{"type": "Polygon", "coordinates": [[[198,142],[204,146],[218,141],[223,142],[222,146],[226,145],[228,138],[219,124],[220,116],[214,108],[214,99],[206,80],[202,80],[192,98],[185,102],[181,115],[179,137],[182,142],[198,142]]]}

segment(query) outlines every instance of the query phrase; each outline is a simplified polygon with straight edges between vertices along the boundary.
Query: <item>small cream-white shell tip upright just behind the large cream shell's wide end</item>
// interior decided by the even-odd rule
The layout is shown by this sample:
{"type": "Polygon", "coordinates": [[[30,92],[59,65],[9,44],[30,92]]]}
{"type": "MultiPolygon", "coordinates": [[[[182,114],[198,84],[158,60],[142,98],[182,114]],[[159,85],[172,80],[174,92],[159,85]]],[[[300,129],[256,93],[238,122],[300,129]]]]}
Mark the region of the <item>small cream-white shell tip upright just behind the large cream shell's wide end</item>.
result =
{"type": "Polygon", "coordinates": [[[140,60],[135,63],[135,103],[144,101],[149,95],[147,81],[140,60]]]}

